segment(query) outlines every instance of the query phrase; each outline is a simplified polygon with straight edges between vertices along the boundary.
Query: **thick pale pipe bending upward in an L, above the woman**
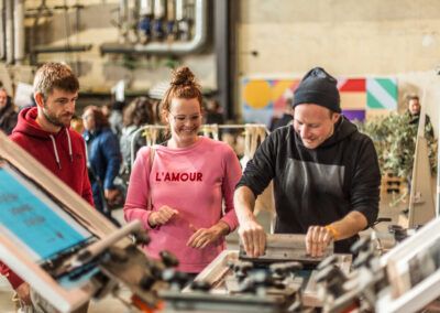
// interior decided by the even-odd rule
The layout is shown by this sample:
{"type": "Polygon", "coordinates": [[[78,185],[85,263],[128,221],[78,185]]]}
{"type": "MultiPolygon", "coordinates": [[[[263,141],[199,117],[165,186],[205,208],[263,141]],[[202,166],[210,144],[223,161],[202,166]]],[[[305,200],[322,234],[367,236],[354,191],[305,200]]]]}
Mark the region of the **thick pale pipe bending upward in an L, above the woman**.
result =
{"type": "Polygon", "coordinates": [[[139,54],[189,54],[199,51],[208,36],[208,3],[207,0],[196,0],[195,35],[189,42],[150,42],[147,44],[103,43],[101,54],[106,53],[139,53],[139,54]]]}

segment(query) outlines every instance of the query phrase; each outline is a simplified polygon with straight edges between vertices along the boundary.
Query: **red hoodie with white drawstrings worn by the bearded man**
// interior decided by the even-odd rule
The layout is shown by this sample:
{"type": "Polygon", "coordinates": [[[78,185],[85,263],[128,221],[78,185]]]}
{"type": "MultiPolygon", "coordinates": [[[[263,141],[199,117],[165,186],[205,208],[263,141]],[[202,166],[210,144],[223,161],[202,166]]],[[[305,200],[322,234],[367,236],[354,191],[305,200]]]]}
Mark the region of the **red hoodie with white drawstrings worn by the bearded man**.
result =
{"type": "MultiPolygon", "coordinates": [[[[36,107],[21,110],[19,121],[9,138],[94,205],[82,137],[68,128],[62,128],[57,133],[44,131],[36,123],[36,107]]],[[[23,282],[2,262],[0,272],[8,278],[13,289],[23,282]]]]}

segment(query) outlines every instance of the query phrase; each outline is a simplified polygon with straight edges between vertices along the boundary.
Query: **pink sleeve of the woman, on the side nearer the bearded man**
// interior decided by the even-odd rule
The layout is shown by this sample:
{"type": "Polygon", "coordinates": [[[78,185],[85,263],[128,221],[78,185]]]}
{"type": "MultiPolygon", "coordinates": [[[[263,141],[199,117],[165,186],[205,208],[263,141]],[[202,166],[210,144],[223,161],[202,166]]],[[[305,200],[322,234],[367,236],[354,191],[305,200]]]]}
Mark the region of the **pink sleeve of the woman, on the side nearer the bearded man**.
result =
{"type": "Polygon", "coordinates": [[[142,148],[138,153],[130,175],[129,190],[123,208],[127,222],[140,219],[145,229],[152,229],[148,224],[151,211],[147,207],[150,195],[150,151],[148,148],[142,148]]]}

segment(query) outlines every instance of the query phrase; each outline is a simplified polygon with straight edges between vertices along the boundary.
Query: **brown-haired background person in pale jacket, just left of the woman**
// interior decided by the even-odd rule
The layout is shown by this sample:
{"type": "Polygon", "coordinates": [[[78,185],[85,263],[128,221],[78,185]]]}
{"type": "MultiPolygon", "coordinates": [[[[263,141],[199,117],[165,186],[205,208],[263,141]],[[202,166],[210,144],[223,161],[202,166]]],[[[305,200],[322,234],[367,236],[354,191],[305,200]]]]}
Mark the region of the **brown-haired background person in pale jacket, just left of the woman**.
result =
{"type": "MultiPolygon", "coordinates": [[[[123,111],[123,128],[119,140],[122,153],[122,171],[131,172],[131,144],[133,134],[143,125],[154,125],[153,102],[146,97],[135,98],[123,111]]],[[[136,137],[134,152],[145,145],[145,137],[136,137]]]]}

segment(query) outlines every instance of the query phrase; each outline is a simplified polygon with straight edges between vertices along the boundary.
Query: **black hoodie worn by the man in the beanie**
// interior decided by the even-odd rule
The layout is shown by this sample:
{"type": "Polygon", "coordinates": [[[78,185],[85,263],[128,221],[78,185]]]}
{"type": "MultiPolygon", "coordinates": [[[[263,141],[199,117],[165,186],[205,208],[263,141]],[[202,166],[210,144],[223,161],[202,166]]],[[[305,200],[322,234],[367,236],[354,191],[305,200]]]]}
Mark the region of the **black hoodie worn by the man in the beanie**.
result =
{"type": "MultiPolygon", "coordinates": [[[[274,180],[277,234],[306,234],[351,211],[371,226],[377,218],[381,172],[372,140],[342,117],[334,133],[316,149],[304,147],[293,126],[277,129],[248,163],[239,186],[260,195],[274,180]]],[[[350,252],[358,236],[336,242],[350,252]]]]}

